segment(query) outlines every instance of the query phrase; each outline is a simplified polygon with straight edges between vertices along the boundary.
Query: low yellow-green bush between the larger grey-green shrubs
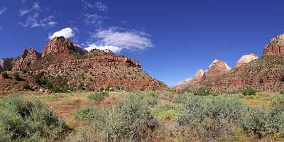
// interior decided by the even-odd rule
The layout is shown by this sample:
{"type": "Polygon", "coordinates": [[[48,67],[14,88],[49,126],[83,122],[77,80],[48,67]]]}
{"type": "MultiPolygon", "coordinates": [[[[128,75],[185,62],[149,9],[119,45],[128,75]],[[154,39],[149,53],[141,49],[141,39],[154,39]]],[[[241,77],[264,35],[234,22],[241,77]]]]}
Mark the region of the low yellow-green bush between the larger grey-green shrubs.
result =
{"type": "Polygon", "coordinates": [[[179,113],[178,107],[170,103],[159,103],[152,109],[152,112],[160,120],[173,120],[179,113]]]}

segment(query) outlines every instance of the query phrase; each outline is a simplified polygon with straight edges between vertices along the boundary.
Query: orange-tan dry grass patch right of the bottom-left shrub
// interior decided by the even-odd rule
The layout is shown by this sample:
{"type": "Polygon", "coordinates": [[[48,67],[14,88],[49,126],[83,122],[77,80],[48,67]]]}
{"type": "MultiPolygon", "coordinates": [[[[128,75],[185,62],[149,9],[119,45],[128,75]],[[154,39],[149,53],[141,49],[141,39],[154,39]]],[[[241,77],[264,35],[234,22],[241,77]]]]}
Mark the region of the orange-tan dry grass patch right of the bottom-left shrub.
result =
{"type": "Polygon", "coordinates": [[[82,124],[82,121],[75,120],[73,114],[81,107],[113,107],[117,102],[125,97],[125,92],[110,92],[109,97],[102,102],[89,102],[87,96],[93,92],[72,92],[72,93],[55,93],[55,94],[40,94],[28,93],[25,97],[39,99],[41,102],[53,109],[66,124],[71,128],[82,124]]]}

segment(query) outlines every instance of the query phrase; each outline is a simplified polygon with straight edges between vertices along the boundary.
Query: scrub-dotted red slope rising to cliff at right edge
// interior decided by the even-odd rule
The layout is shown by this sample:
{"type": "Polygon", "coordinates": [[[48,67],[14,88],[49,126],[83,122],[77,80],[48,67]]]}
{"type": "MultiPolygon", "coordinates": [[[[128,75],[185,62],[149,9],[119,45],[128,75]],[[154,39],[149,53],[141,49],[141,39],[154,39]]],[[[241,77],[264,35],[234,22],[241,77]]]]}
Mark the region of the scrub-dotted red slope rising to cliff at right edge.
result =
{"type": "Polygon", "coordinates": [[[284,90],[284,46],[283,35],[273,38],[264,48],[261,58],[229,70],[215,80],[202,80],[191,86],[195,90],[207,85],[217,93],[239,92],[244,87],[257,91],[284,90]]]}

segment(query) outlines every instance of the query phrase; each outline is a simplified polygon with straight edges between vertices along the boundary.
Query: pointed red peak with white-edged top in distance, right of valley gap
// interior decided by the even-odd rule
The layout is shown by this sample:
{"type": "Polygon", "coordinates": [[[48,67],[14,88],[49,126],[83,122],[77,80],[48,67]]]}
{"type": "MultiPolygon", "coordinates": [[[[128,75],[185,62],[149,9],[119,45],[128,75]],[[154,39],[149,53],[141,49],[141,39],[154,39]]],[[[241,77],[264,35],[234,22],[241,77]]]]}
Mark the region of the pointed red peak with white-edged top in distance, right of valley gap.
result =
{"type": "Polygon", "coordinates": [[[209,69],[204,72],[203,79],[216,79],[217,77],[223,75],[228,70],[231,70],[231,67],[226,64],[223,60],[215,59],[209,69]]]}

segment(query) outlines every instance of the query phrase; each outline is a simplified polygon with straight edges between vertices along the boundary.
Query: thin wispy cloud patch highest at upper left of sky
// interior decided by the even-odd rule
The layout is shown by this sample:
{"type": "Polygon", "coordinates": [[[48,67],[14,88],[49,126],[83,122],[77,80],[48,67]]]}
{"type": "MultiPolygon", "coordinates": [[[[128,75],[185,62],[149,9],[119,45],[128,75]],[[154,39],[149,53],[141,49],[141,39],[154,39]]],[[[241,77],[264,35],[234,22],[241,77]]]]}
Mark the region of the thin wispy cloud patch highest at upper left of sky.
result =
{"type": "Polygon", "coordinates": [[[38,27],[53,27],[57,24],[54,21],[55,16],[48,16],[45,18],[40,18],[40,4],[39,2],[33,3],[31,9],[21,9],[19,14],[21,17],[24,17],[24,21],[20,21],[19,23],[23,27],[27,28],[38,28],[38,27]]]}

